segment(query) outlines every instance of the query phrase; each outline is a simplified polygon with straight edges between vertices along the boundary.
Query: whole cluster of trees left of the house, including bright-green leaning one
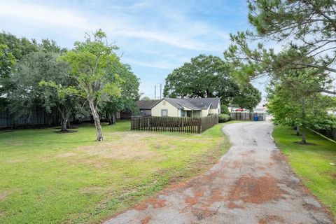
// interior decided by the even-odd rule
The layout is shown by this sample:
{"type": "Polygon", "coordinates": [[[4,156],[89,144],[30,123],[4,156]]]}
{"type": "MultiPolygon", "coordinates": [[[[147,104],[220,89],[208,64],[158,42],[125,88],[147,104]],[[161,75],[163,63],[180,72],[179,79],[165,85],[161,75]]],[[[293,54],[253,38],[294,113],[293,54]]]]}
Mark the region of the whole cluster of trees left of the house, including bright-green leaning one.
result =
{"type": "Polygon", "coordinates": [[[120,62],[118,47],[98,30],[67,50],[55,41],[0,34],[1,110],[15,119],[31,116],[35,109],[58,111],[62,132],[70,118],[92,114],[97,140],[104,139],[100,118],[113,123],[118,111],[136,111],[139,78],[120,62]]]}

